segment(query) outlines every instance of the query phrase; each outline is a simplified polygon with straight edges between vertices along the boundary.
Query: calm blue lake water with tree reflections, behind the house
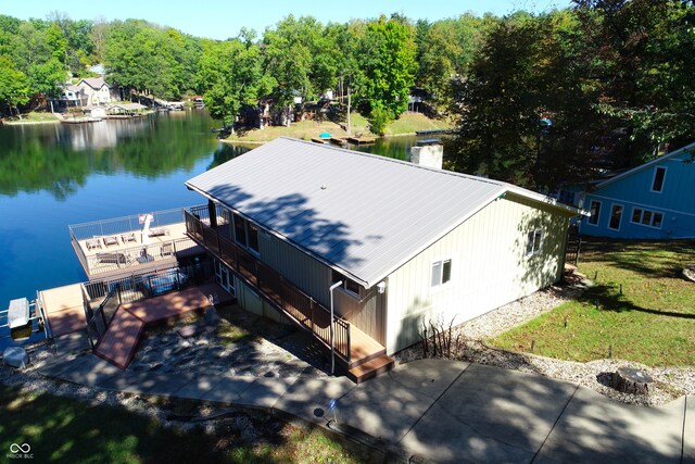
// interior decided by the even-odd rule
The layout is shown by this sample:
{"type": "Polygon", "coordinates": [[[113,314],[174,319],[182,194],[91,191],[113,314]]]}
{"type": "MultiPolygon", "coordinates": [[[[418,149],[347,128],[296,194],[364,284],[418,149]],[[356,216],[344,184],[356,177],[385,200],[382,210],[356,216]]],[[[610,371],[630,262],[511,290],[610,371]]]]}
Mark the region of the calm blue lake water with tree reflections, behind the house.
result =
{"type": "MultiPolygon", "coordinates": [[[[0,126],[0,309],[87,279],[68,225],[203,203],[184,183],[249,150],[218,142],[217,126],[204,111],[0,126]]],[[[416,139],[359,150],[403,159],[416,139]]]]}

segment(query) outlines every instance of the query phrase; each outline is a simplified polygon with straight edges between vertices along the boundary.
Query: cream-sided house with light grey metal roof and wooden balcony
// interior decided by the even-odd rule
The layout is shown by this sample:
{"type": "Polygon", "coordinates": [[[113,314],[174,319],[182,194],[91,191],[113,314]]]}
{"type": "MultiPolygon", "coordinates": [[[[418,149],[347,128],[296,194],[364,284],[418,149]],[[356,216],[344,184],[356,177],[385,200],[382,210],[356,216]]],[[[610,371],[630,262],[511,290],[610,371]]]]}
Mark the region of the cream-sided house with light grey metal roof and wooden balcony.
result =
{"type": "Polygon", "coordinates": [[[217,281],[311,331],[357,381],[424,324],[460,324],[559,280],[579,214],[502,181],[290,138],[186,185],[208,200],[185,216],[217,281]]]}

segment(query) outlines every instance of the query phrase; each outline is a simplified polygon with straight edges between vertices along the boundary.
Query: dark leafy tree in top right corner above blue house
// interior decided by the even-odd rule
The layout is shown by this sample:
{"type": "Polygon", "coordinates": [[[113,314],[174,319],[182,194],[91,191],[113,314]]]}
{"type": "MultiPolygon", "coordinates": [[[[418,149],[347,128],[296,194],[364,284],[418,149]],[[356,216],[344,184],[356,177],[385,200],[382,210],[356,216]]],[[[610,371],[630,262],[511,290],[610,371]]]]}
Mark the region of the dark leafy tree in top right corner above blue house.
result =
{"type": "Polygon", "coordinates": [[[656,154],[664,142],[695,137],[695,7],[688,1],[578,0],[587,81],[614,130],[626,129],[626,164],[656,154]]]}

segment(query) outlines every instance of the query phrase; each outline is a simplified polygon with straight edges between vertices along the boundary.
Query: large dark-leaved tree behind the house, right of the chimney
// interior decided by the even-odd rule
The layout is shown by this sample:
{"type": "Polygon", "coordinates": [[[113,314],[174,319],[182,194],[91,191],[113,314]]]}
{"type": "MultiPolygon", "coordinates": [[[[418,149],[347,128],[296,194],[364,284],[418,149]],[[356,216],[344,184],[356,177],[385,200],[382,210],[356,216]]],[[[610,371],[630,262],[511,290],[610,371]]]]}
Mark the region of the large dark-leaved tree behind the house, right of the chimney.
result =
{"type": "Polygon", "coordinates": [[[568,12],[519,13],[491,30],[455,86],[457,171],[543,190],[591,175],[603,121],[576,61],[577,35],[568,12]]]}

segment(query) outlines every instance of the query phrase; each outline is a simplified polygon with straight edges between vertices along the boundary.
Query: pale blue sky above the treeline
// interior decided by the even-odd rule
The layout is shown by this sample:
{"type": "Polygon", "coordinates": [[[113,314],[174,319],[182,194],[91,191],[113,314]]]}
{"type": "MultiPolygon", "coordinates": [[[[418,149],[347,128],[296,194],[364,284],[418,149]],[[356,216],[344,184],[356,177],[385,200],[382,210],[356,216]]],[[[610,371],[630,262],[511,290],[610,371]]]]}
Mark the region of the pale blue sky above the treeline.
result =
{"type": "Polygon", "coordinates": [[[542,12],[568,7],[570,0],[0,0],[0,14],[45,20],[53,11],[72,20],[138,18],[212,39],[236,37],[242,27],[260,35],[280,20],[312,15],[321,23],[378,17],[397,12],[412,20],[437,21],[466,12],[509,14],[517,10],[542,12]]]}

